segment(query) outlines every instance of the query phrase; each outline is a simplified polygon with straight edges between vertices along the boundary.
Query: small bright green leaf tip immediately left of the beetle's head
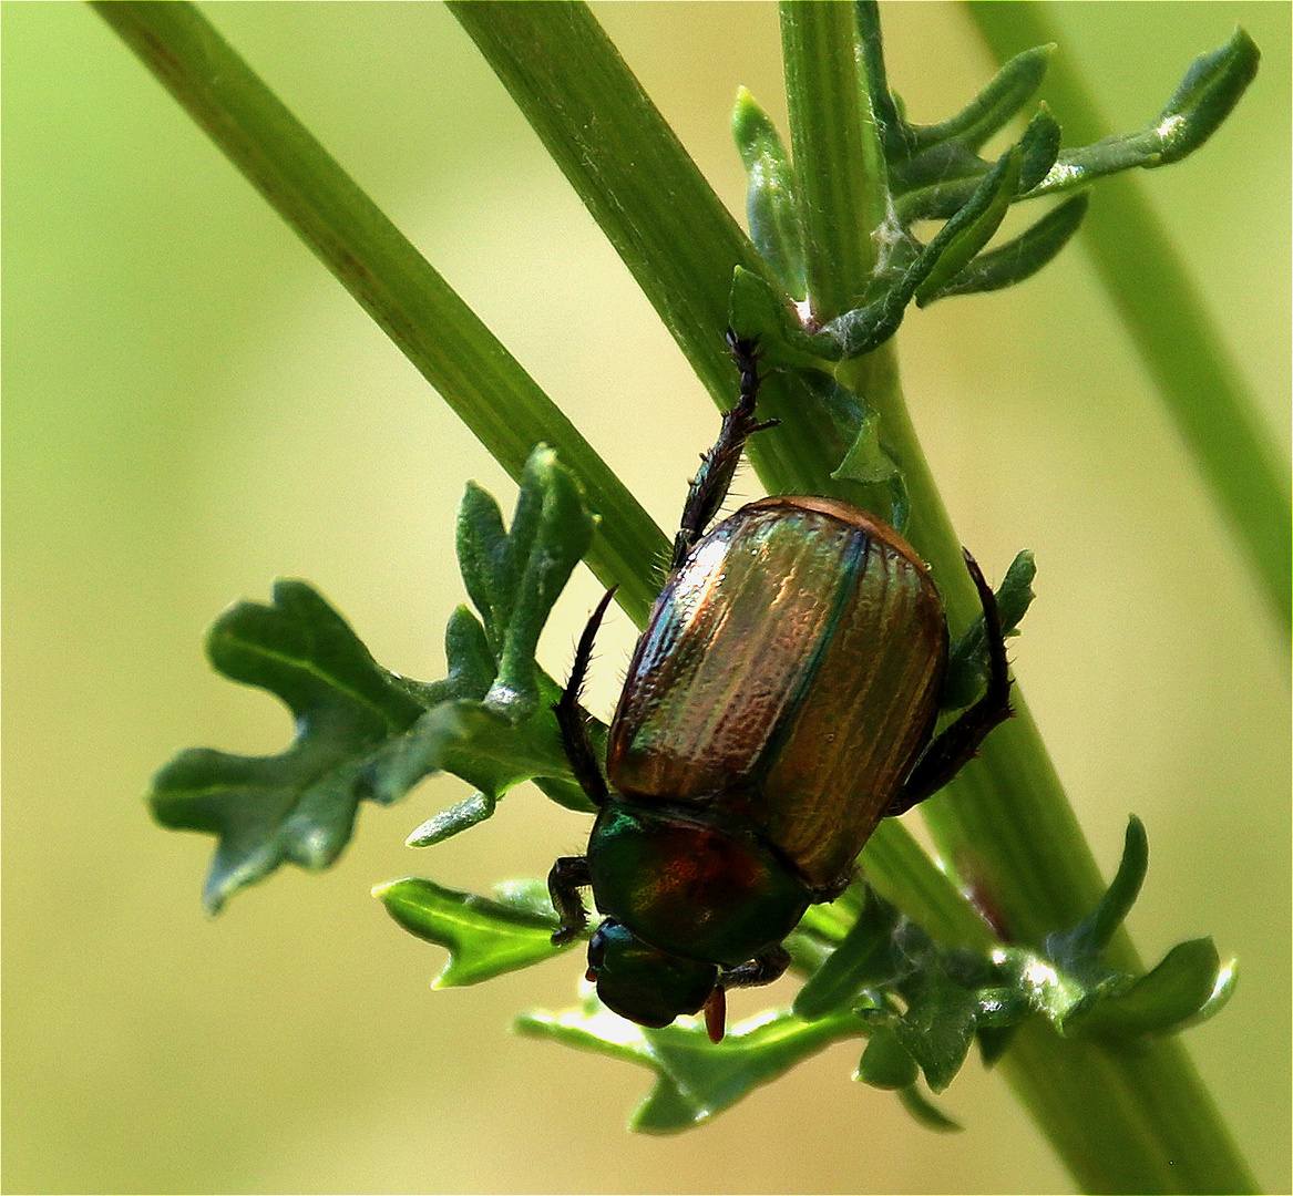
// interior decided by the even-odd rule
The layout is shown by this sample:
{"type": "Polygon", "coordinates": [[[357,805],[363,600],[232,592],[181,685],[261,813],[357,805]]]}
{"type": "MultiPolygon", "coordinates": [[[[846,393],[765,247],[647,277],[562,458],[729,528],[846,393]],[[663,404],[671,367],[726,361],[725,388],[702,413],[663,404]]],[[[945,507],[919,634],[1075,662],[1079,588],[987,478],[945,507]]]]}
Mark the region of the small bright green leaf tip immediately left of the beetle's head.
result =
{"type": "Polygon", "coordinates": [[[569,946],[552,945],[557,917],[551,906],[537,913],[529,890],[512,902],[491,901],[442,888],[422,877],[406,877],[379,884],[372,895],[405,930],[449,950],[449,962],[433,981],[434,988],[480,984],[559,956],[569,946]]]}

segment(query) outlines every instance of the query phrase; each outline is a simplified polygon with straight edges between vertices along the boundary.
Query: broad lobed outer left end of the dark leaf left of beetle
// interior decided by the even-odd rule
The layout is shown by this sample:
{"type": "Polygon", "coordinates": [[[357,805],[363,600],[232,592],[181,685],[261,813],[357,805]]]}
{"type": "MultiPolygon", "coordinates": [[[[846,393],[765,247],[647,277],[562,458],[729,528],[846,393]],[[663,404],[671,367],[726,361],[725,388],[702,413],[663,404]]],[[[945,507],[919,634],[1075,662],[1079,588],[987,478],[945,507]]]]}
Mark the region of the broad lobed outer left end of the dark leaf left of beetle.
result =
{"type": "Polygon", "coordinates": [[[219,837],[203,890],[216,913],[283,862],[330,865],[350,838],[359,799],[374,796],[367,760],[423,706],[304,582],[277,582],[272,606],[231,606],[212,626],[207,654],[230,680],[281,697],[296,724],[279,755],[190,749],[153,778],[150,802],[163,826],[219,837]]]}

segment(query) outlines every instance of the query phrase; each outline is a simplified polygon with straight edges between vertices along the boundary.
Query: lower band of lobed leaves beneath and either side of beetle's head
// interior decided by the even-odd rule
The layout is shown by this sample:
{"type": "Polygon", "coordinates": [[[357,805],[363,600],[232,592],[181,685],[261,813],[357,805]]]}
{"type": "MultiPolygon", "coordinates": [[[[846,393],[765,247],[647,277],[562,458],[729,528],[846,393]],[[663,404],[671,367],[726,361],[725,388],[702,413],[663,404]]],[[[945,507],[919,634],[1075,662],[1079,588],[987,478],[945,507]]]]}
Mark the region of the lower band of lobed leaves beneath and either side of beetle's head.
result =
{"type": "MultiPolygon", "coordinates": [[[[1144,829],[1131,818],[1118,871],[1099,905],[1042,952],[997,945],[974,952],[935,941],[865,883],[831,908],[816,908],[787,945],[807,976],[790,1010],[737,1025],[718,1046],[700,1019],[653,1030],[609,1014],[592,988],[573,1009],[531,1011],[521,1033],[639,1063],[656,1087],[631,1125],[674,1133],[709,1120],[807,1055],[842,1038],[866,1038],[856,1078],[895,1090],[932,1129],[954,1129],[917,1087],[944,1091],[976,1042],[985,1063],[1010,1032],[1046,1019],[1062,1036],[1127,1047],[1175,1033],[1215,1014],[1234,987],[1234,963],[1212,943],[1184,943],[1143,976],[1102,956],[1144,878],[1144,829]]],[[[559,954],[556,914],[538,881],[513,882],[494,900],[410,878],[375,893],[406,930],[449,950],[437,987],[476,984],[559,954]]]]}

